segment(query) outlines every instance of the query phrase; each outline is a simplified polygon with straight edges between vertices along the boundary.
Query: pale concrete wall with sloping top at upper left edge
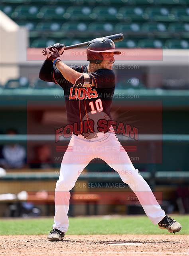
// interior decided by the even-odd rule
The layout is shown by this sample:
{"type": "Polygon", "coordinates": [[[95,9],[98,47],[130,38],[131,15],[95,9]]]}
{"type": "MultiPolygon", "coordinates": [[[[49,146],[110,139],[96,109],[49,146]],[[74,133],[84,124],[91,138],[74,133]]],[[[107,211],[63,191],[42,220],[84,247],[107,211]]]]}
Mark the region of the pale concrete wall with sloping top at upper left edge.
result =
{"type": "Polygon", "coordinates": [[[0,11],[0,83],[20,76],[19,63],[26,61],[28,32],[0,11]]]}

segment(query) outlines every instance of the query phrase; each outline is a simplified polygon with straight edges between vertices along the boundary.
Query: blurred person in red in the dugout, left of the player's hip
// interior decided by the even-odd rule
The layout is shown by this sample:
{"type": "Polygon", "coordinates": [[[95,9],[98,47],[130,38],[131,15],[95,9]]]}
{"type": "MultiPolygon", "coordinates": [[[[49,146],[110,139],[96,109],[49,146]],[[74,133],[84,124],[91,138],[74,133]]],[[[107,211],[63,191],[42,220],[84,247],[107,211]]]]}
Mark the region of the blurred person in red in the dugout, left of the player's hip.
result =
{"type": "Polygon", "coordinates": [[[34,148],[35,157],[32,161],[31,168],[33,169],[48,169],[52,168],[52,159],[51,159],[51,148],[49,145],[38,145],[34,148]]]}

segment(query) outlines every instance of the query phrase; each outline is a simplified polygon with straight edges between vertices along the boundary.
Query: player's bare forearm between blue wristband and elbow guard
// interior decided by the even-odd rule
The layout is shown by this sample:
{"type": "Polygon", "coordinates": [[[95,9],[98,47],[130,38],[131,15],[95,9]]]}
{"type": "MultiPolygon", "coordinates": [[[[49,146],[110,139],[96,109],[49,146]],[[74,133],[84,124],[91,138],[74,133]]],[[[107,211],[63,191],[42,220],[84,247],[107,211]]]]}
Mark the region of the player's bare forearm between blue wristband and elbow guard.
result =
{"type": "Polygon", "coordinates": [[[65,79],[68,80],[70,83],[74,84],[75,80],[81,76],[81,73],[75,71],[63,62],[58,62],[56,64],[56,67],[62,73],[63,77],[65,77],[65,79]]]}

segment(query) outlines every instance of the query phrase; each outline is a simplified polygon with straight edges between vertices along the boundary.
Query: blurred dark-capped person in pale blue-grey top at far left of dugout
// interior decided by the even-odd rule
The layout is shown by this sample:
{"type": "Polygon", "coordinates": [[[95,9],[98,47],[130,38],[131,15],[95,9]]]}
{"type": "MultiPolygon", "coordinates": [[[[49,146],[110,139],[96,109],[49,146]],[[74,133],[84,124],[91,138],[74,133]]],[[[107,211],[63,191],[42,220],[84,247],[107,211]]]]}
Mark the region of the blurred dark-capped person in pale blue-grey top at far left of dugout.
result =
{"type": "MultiPolygon", "coordinates": [[[[18,134],[16,129],[8,129],[6,135],[18,134]]],[[[16,143],[4,145],[0,154],[0,165],[5,169],[16,169],[26,167],[26,149],[16,143]]]]}

